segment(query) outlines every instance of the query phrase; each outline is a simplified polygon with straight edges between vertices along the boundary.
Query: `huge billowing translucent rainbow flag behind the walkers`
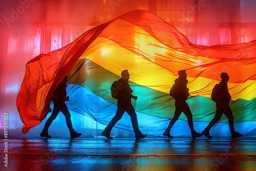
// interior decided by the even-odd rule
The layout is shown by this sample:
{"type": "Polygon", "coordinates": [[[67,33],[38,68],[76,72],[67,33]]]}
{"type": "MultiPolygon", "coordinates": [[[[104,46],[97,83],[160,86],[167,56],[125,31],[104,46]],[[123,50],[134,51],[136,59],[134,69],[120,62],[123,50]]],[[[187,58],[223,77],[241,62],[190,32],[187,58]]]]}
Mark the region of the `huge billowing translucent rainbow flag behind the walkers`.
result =
{"type": "MultiPolygon", "coordinates": [[[[255,137],[255,68],[256,40],[239,45],[194,45],[155,14],[132,11],[27,63],[17,97],[17,109],[24,123],[22,132],[27,133],[44,120],[54,91],[66,75],[71,99],[66,104],[71,115],[83,114],[108,124],[117,109],[110,87],[127,69],[133,95],[138,96],[135,110],[139,128],[143,133],[160,136],[175,111],[169,90],[178,71],[186,70],[190,94],[187,103],[197,132],[202,132],[215,116],[216,103],[210,95],[221,80],[220,74],[226,72],[230,77],[227,85],[235,130],[244,137],[255,137]]],[[[129,122],[130,117],[125,114],[115,126],[127,129],[129,122]]],[[[133,131],[132,125],[129,130],[133,131]]],[[[191,136],[184,114],[170,134],[191,136]]],[[[210,134],[230,136],[224,114],[210,134]]]]}

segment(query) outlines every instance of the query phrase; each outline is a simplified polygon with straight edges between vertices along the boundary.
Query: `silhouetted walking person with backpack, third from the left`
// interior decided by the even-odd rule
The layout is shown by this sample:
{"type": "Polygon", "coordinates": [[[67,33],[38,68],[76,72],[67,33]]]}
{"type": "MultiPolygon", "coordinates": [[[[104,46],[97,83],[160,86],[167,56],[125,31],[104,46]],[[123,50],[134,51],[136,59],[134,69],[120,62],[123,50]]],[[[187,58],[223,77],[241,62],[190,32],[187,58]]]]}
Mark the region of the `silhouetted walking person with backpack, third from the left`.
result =
{"type": "Polygon", "coordinates": [[[187,89],[187,74],[185,70],[179,71],[179,78],[175,80],[175,84],[170,90],[170,96],[173,96],[175,101],[175,114],[173,119],[170,121],[167,129],[163,133],[164,136],[167,136],[169,138],[174,138],[173,136],[170,136],[170,129],[172,129],[174,123],[178,120],[179,116],[181,115],[181,112],[183,112],[188,121],[188,125],[191,131],[191,135],[193,139],[202,136],[202,134],[197,133],[194,130],[193,120],[192,120],[192,114],[191,111],[186,103],[186,99],[189,96],[188,89],[187,89]]]}

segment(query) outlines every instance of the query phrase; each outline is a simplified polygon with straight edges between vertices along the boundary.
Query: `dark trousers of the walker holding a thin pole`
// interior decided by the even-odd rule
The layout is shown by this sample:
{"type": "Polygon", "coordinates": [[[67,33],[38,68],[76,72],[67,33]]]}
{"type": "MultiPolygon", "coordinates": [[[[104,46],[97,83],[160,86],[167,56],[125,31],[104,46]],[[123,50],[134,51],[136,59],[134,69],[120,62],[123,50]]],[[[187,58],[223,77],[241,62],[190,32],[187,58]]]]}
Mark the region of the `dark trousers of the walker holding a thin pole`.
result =
{"type": "Polygon", "coordinates": [[[112,128],[114,127],[114,125],[116,124],[117,121],[119,121],[124,112],[127,112],[132,120],[132,125],[133,125],[133,129],[135,132],[135,135],[140,134],[139,132],[139,125],[138,125],[138,120],[137,120],[137,115],[135,113],[135,110],[133,108],[133,105],[130,103],[122,103],[120,101],[117,102],[117,111],[116,111],[116,115],[114,116],[114,118],[110,121],[109,125],[106,126],[105,130],[108,132],[111,132],[112,128]]]}

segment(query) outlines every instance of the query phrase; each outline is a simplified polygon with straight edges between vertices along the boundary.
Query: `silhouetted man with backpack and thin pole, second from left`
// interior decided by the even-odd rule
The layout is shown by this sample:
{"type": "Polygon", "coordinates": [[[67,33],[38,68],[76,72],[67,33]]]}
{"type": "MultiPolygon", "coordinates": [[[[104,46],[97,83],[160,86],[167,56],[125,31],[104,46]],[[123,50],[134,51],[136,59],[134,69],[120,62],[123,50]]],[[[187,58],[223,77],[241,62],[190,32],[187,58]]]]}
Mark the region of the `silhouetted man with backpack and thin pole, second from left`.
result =
{"type": "MultiPolygon", "coordinates": [[[[135,133],[136,140],[145,138],[146,135],[142,134],[139,131],[138,126],[138,120],[137,115],[135,113],[135,110],[133,108],[133,105],[131,104],[131,98],[134,98],[137,100],[137,96],[132,95],[132,89],[129,86],[128,80],[130,79],[130,75],[127,70],[122,71],[121,73],[122,78],[119,79],[116,83],[116,97],[118,99],[117,101],[117,111],[114,118],[110,121],[109,125],[106,126],[105,130],[101,133],[103,136],[105,136],[108,139],[112,139],[113,137],[110,137],[110,132],[116,122],[120,120],[126,111],[130,116],[132,120],[132,125],[135,133]]],[[[112,93],[113,96],[113,93],[112,93]]]]}

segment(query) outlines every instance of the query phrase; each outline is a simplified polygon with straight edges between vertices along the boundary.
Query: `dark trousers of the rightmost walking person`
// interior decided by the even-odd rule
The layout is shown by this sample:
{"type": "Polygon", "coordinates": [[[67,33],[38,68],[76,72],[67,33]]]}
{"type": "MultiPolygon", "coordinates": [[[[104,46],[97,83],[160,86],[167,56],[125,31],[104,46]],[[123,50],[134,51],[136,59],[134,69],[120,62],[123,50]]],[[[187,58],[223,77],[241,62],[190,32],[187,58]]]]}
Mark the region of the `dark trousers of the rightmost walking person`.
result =
{"type": "Polygon", "coordinates": [[[214,119],[212,119],[209,123],[209,125],[206,127],[206,131],[210,131],[211,127],[214,126],[214,124],[220,120],[222,114],[224,113],[227,118],[228,118],[228,123],[229,123],[229,128],[230,128],[230,132],[231,134],[234,133],[234,122],[233,122],[233,114],[232,114],[232,111],[229,107],[228,104],[223,104],[221,102],[217,102],[216,104],[216,108],[217,108],[217,111],[216,111],[216,114],[215,114],[215,117],[214,119]]]}

